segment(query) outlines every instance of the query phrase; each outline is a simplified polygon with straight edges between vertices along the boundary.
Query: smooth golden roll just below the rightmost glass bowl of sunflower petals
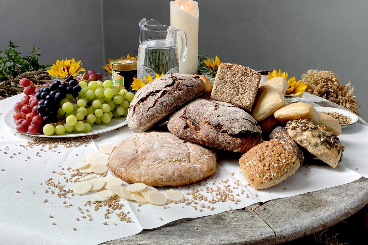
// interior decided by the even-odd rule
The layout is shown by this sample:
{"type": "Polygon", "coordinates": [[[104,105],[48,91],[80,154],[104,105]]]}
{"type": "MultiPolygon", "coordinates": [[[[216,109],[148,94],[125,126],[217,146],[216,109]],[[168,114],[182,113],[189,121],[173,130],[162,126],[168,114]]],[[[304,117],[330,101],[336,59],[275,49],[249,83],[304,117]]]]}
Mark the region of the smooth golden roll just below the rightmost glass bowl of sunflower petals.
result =
{"type": "Polygon", "coordinates": [[[313,121],[317,116],[317,111],[310,104],[296,102],[278,109],[273,115],[277,120],[285,124],[293,119],[307,119],[308,121],[313,121]]]}

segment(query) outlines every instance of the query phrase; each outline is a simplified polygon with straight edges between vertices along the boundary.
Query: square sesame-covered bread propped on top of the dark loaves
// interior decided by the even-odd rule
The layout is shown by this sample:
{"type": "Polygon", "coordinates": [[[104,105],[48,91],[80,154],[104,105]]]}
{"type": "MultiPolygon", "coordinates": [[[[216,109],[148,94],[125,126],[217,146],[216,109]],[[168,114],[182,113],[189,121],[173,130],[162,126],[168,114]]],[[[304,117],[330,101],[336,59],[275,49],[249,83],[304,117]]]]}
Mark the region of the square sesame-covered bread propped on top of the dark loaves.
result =
{"type": "Polygon", "coordinates": [[[255,70],[231,63],[222,63],[216,73],[211,99],[236,105],[250,111],[261,75],[255,70]]]}

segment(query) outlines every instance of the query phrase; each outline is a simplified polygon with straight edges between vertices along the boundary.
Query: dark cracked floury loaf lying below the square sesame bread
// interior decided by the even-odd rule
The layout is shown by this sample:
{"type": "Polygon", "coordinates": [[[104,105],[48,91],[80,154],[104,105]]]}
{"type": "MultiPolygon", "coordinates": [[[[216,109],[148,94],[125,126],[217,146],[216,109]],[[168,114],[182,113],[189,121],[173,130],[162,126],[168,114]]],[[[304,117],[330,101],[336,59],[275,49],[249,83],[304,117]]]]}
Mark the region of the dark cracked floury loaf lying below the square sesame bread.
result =
{"type": "Polygon", "coordinates": [[[262,142],[252,116],[226,102],[198,98],[175,111],[167,122],[181,138],[227,151],[247,152],[262,142]]]}

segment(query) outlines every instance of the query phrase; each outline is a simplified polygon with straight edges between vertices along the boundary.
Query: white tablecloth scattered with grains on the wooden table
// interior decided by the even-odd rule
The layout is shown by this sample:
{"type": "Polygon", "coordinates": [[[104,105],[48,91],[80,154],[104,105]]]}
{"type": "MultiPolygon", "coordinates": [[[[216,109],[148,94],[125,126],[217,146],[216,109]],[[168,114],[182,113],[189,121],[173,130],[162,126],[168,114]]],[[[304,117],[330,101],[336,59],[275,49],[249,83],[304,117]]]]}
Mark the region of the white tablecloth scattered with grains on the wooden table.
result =
{"type": "MultiPolygon", "coordinates": [[[[105,143],[117,144],[120,140],[134,133],[127,126],[124,126],[101,135],[100,140],[91,140],[88,147],[82,145],[78,148],[65,148],[59,145],[55,148],[56,152],[41,146],[25,149],[20,147],[20,144],[26,145],[27,141],[31,139],[19,133],[14,134],[14,131],[11,131],[4,123],[5,114],[13,108],[14,103],[19,101],[21,97],[18,95],[0,101],[0,113],[2,113],[0,115],[0,169],[5,170],[0,171],[1,244],[100,244],[137,234],[142,229],[160,227],[184,217],[201,217],[228,211],[230,208],[240,209],[255,202],[290,197],[350,183],[362,176],[368,177],[368,127],[355,124],[343,129],[340,140],[345,146],[345,152],[342,163],[335,169],[320,161],[305,162],[287,180],[267,190],[258,191],[247,186],[247,181],[239,168],[238,158],[240,155],[222,155],[218,161],[216,174],[208,180],[208,184],[206,186],[191,185],[190,188],[198,188],[199,193],[212,199],[211,194],[206,194],[205,187],[216,188],[217,185],[224,188],[224,183],[221,183],[223,180],[227,182],[226,185],[230,184],[232,194],[240,199],[237,204],[235,201],[215,204],[202,201],[198,202],[197,205],[171,203],[169,204],[170,208],[163,209],[161,206],[150,204],[138,206],[136,202],[121,200],[121,203],[124,204],[123,208],[115,210],[114,213],[122,210],[125,213],[130,212],[128,216],[134,223],[119,221],[114,213],[105,219],[103,214],[106,212],[106,207],[94,211],[93,206],[84,206],[84,203],[90,200],[93,194],[68,195],[68,198],[60,199],[56,194],[51,194],[51,190],[57,193],[57,189],[49,188],[45,185],[45,181],[52,178],[56,183],[59,180],[66,185],[66,189],[72,189],[74,183],[65,183],[63,179],[64,177],[70,178],[70,173],[72,173],[67,171],[67,167],[79,163],[90,152],[98,151],[101,145],[105,143]],[[43,149],[41,150],[41,148],[43,149]],[[7,152],[7,154],[3,152],[7,152]],[[40,157],[36,156],[37,152],[39,152],[40,157]],[[15,155],[13,155],[14,153],[15,155]],[[11,155],[13,155],[12,158],[10,158],[11,155]],[[65,168],[62,172],[66,175],[60,176],[58,172],[62,168],[65,168]],[[214,180],[216,180],[215,184],[213,184],[214,180]],[[240,185],[234,184],[237,180],[240,181],[240,185]],[[232,187],[238,187],[238,189],[232,189],[232,187]],[[45,190],[48,192],[45,193],[45,190]],[[240,194],[241,190],[244,190],[243,194],[240,194]],[[246,198],[246,194],[248,194],[248,198],[246,198]],[[47,199],[47,202],[44,202],[44,199],[47,199]],[[201,203],[215,209],[210,211],[202,208],[202,212],[199,212],[201,203]],[[70,207],[64,207],[70,204],[70,207]],[[193,206],[197,206],[197,210],[193,206]],[[81,214],[78,207],[84,214],[81,214]],[[89,212],[86,212],[86,209],[89,209],[89,212]],[[87,213],[92,216],[92,221],[88,221],[88,217],[87,219],[81,218],[87,213]],[[49,218],[49,215],[52,215],[53,218],[49,218]],[[162,220],[159,219],[160,217],[162,220]],[[76,218],[79,218],[79,221],[76,218]],[[56,224],[52,225],[53,222],[56,224]],[[104,222],[108,224],[104,225],[104,222]],[[117,223],[117,226],[113,223],[117,223]],[[72,230],[73,227],[76,228],[75,231],[72,230]]],[[[163,192],[164,188],[160,188],[160,191],[163,192]]],[[[191,190],[185,190],[185,188],[182,190],[183,194],[188,191],[191,190]]],[[[359,194],[357,193],[357,195],[359,194]]],[[[184,196],[191,197],[186,194],[184,196]]]]}

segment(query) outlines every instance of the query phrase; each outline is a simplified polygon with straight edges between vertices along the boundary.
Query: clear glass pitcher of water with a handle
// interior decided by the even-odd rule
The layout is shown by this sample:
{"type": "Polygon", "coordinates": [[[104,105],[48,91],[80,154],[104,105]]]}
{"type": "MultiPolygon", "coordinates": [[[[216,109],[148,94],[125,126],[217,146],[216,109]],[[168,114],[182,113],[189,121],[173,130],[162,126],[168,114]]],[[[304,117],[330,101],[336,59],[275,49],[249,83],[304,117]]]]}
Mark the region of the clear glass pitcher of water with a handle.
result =
{"type": "Polygon", "coordinates": [[[144,76],[155,78],[166,73],[179,72],[178,36],[181,38],[180,59],[185,61],[188,50],[188,37],[184,30],[174,26],[161,25],[158,21],[145,18],[139,21],[137,78],[144,81],[144,76]]]}

